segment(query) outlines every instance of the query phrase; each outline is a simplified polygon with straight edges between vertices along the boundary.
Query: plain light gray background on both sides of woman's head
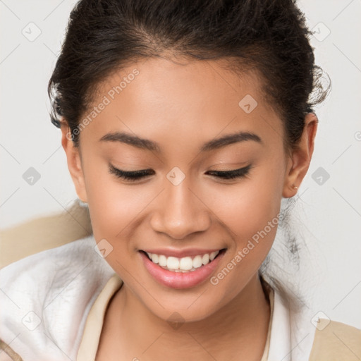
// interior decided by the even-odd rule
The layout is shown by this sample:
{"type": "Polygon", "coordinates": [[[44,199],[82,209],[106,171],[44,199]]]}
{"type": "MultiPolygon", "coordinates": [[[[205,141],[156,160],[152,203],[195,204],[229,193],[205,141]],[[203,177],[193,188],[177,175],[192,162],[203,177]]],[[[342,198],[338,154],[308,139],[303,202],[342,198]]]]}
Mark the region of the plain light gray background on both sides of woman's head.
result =
{"type": "MultiPolygon", "coordinates": [[[[74,4],[0,1],[1,228],[61,212],[77,197],[60,130],[49,121],[47,98],[47,82],[74,4]],[[37,31],[37,39],[27,39],[37,31]],[[41,176],[34,185],[23,179],[30,167],[41,176]]],[[[316,109],[314,157],[295,209],[307,244],[307,296],[314,313],[361,328],[361,1],[299,4],[317,31],[312,38],[316,61],[332,80],[329,98],[316,109]],[[328,180],[315,173],[319,167],[329,173],[328,180]]]]}

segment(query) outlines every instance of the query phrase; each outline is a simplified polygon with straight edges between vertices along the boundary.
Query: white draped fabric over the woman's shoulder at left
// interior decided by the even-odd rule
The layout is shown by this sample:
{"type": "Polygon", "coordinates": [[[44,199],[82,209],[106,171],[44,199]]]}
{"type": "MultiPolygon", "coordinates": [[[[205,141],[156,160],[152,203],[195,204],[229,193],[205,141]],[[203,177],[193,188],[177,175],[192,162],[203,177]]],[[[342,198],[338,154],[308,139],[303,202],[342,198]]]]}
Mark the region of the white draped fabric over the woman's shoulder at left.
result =
{"type": "Polygon", "coordinates": [[[114,274],[92,235],[0,270],[0,339],[24,360],[75,358],[87,313],[114,274]]]}

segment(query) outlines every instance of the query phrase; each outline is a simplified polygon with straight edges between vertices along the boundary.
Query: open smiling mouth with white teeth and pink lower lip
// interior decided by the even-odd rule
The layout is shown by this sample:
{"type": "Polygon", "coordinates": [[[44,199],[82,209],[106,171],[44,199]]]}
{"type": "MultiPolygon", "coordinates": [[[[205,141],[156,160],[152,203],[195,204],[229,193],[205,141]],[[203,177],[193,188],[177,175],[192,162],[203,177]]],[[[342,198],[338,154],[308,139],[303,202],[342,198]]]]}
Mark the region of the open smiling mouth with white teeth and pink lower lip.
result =
{"type": "Polygon", "coordinates": [[[191,288],[209,278],[224,256],[226,248],[185,257],[167,257],[160,252],[145,250],[138,252],[145,268],[156,281],[171,288],[191,288]]]}

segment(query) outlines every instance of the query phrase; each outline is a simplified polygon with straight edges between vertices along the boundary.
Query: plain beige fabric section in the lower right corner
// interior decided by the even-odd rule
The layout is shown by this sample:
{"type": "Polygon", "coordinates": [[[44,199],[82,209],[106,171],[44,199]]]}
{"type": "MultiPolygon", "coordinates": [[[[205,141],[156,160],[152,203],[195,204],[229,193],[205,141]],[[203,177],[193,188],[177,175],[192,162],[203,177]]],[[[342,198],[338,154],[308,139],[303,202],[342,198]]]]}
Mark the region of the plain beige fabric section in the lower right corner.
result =
{"type": "Polygon", "coordinates": [[[348,324],[319,319],[310,361],[353,361],[361,359],[361,330],[348,324]]]}

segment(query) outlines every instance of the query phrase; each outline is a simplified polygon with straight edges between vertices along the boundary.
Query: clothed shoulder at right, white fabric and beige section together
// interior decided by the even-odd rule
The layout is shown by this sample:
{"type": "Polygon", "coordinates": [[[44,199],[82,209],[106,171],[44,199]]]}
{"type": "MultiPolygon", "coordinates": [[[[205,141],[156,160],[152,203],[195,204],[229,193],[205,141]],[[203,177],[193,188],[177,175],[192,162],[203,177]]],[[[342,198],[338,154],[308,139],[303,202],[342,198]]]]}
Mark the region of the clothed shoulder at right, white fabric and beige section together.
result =
{"type": "Polygon", "coordinates": [[[316,317],[312,307],[290,307],[289,298],[274,290],[271,336],[267,360],[361,360],[361,330],[316,317]]]}

